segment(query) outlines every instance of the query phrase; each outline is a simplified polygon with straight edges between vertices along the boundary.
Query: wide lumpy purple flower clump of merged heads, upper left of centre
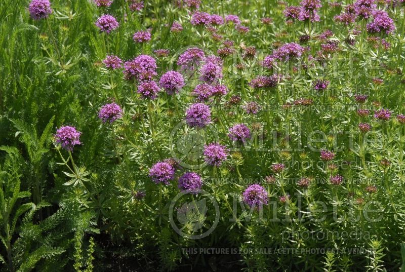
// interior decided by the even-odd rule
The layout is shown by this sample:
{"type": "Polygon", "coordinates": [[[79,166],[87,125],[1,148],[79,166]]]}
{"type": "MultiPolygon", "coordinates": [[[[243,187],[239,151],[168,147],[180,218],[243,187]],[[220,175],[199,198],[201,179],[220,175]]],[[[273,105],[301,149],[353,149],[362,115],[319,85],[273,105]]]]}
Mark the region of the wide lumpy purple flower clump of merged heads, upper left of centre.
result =
{"type": "Polygon", "coordinates": [[[151,80],[156,73],[156,61],[148,55],[140,55],[124,63],[124,74],[127,80],[135,77],[138,81],[151,80]]]}

